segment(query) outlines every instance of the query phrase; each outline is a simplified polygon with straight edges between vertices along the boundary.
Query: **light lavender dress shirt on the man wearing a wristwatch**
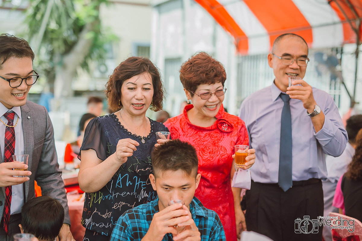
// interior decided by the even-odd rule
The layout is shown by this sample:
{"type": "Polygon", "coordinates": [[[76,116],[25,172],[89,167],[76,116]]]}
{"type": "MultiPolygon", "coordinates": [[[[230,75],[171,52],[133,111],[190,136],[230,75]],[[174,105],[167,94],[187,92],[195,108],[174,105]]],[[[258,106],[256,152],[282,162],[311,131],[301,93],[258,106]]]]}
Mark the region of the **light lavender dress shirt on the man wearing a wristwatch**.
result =
{"type": "MultiPolygon", "coordinates": [[[[315,133],[311,117],[301,100],[290,99],[292,120],[292,180],[327,178],[325,154],[340,156],[348,137],[333,98],[312,88],[316,103],[325,115],[323,128],[315,133]]],[[[248,96],[240,107],[241,120],[256,150],[251,178],[255,182],[278,183],[282,91],[274,84],[248,96]]]]}

